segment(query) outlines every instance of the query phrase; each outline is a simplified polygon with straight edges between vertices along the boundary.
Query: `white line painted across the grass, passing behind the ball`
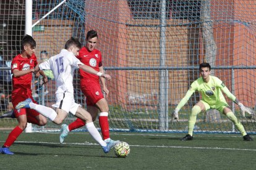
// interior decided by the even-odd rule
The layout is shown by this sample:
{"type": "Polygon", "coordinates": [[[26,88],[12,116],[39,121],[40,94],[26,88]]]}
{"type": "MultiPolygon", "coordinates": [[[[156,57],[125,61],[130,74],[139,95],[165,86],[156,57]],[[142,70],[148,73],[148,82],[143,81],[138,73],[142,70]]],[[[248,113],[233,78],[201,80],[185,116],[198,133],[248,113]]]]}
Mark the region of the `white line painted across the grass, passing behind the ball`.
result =
{"type": "MultiPolygon", "coordinates": [[[[5,142],[5,141],[0,141],[5,142]]],[[[19,141],[15,143],[25,143],[25,144],[59,144],[56,142],[28,142],[28,141],[19,141]]],[[[63,143],[62,145],[98,145],[93,143],[63,143]]],[[[180,146],[158,146],[158,145],[130,145],[130,147],[148,147],[148,148],[194,148],[194,149],[215,149],[215,150],[248,150],[256,151],[256,149],[246,149],[246,148],[211,148],[211,147],[180,147],[180,146]]]]}

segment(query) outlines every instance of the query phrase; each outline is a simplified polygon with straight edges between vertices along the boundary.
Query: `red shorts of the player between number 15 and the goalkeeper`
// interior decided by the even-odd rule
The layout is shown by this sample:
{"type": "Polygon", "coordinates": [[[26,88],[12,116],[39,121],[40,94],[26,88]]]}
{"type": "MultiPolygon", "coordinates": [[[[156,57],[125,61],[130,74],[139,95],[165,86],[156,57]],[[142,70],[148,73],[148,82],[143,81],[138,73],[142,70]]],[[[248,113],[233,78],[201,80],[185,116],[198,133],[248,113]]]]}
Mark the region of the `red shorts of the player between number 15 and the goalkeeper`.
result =
{"type": "Polygon", "coordinates": [[[81,91],[86,97],[86,103],[89,106],[95,105],[100,99],[104,98],[100,83],[81,84],[81,91]]]}

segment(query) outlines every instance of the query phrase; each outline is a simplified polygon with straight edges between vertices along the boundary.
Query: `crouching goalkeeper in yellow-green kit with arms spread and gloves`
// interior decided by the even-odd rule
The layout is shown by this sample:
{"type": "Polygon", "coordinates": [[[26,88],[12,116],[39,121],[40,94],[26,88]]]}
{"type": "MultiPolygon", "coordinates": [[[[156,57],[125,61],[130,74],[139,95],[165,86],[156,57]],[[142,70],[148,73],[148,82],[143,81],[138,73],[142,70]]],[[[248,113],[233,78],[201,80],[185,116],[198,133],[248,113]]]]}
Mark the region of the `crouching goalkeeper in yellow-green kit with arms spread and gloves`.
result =
{"type": "Polygon", "coordinates": [[[201,111],[209,110],[210,108],[215,108],[216,110],[220,111],[220,113],[226,115],[231,121],[233,121],[236,128],[239,130],[239,132],[241,132],[244,140],[252,141],[252,137],[250,137],[245,132],[244,126],[242,126],[242,124],[239,122],[239,120],[229,108],[229,105],[224,99],[222,92],[224,92],[224,94],[226,94],[229,99],[233,100],[233,102],[239,105],[242,110],[243,116],[245,116],[245,111],[250,113],[249,108],[244,107],[244,105],[239,102],[233,94],[231,94],[231,92],[220,79],[216,78],[215,76],[210,76],[211,66],[209,63],[201,63],[199,66],[199,70],[201,77],[191,84],[190,89],[187,91],[187,94],[181,100],[181,102],[179,102],[173,112],[173,119],[176,119],[178,121],[178,111],[187,103],[191,95],[195,91],[198,91],[202,96],[202,99],[192,108],[192,112],[189,115],[188,134],[181,140],[193,139],[193,129],[198,113],[200,113],[201,111]]]}

